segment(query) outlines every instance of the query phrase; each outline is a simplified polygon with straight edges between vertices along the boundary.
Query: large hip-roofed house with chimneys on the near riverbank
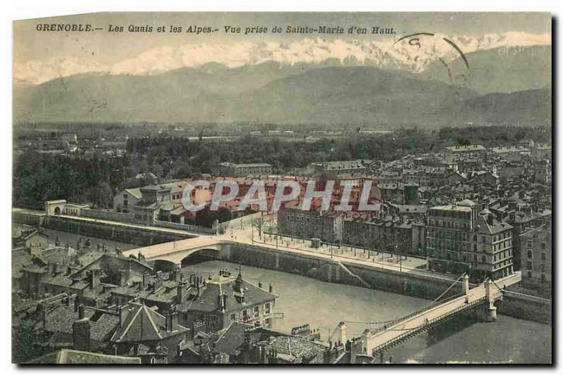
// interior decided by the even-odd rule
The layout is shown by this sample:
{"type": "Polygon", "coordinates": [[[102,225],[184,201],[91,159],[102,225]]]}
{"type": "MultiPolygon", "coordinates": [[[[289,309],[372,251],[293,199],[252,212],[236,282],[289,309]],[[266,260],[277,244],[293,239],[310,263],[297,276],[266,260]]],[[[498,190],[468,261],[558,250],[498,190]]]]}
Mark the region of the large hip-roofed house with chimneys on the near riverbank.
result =
{"type": "Polygon", "coordinates": [[[278,298],[272,284],[268,290],[260,283],[255,286],[243,280],[240,269],[236,277],[227,269],[220,269],[207,280],[193,275],[189,288],[180,293],[185,295],[177,296],[182,301],[177,305],[179,323],[190,327],[194,335],[220,331],[233,322],[270,328],[278,298]]]}

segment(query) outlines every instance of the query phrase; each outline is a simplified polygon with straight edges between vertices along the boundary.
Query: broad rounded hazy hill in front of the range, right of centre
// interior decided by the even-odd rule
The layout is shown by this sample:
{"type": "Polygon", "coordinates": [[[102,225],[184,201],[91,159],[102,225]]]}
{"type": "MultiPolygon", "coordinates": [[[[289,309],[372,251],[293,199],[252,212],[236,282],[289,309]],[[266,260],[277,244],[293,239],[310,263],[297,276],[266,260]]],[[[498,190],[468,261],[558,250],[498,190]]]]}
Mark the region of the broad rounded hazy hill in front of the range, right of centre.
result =
{"type": "Polygon", "coordinates": [[[404,124],[436,120],[475,93],[378,68],[322,68],[274,80],[240,97],[244,120],[404,124]]]}

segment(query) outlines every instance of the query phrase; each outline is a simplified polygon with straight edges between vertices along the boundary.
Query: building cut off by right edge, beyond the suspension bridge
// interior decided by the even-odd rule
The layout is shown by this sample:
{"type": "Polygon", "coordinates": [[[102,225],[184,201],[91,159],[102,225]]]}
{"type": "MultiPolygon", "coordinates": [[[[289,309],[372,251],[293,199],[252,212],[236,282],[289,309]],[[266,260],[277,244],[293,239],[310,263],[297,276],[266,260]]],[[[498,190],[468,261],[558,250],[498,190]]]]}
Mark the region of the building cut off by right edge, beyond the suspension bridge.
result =
{"type": "Polygon", "coordinates": [[[551,288],[551,224],[520,234],[522,285],[551,288]]]}

